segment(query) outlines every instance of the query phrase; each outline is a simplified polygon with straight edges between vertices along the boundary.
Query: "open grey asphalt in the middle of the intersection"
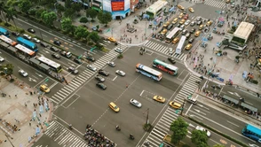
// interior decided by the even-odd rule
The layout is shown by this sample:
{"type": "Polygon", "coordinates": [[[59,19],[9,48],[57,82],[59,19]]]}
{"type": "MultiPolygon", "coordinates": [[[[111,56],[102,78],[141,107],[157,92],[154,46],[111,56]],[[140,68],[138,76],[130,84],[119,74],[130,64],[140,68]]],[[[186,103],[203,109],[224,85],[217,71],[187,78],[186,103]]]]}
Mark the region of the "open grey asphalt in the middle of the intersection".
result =
{"type": "Polygon", "coordinates": [[[162,108],[173,97],[174,92],[185,79],[186,67],[177,63],[182,74],[173,77],[170,74],[163,73],[162,81],[152,81],[144,75],[135,72],[135,66],[138,63],[151,66],[154,58],[164,59],[164,57],[153,54],[151,56],[138,55],[138,47],[130,48],[124,52],[123,59],[116,59],[115,67],[106,66],[110,75],[106,78],[106,90],[95,86],[97,81],[91,79],[84,84],[81,89],[76,90],[74,96],[67,99],[66,102],[56,109],[54,114],[68,124],[74,124],[74,127],[83,133],[86,124],[93,125],[103,135],[117,143],[119,146],[135,146],[145,132],[142,128],[146,122],[146,110],[149,108],[149,120],[153,122],[162,108]],[[135,59],[133,59],[135,57],[135,59]],[[115,74],[115,70],[120,69],[126,73],[125,77],[115,74]],[[184,75],[183,75],[184,74],[184,75]],[[128,84],[129,88],[126,88],[128,84]],[[166,98],[165,104],[154,102],[154,95],[160,95],[166,98]],[[142,108],[130,104],[130,99],[135,98],[143,104],[142,108]],[[108,108],[110,102],[115,102],[120,107],[120,112],[115,113],[108,108]],[[115,130],[119,125],[122,131],[115,130]],[[130,141],[130,134],[135,135],[137,139],[130,141]]]}

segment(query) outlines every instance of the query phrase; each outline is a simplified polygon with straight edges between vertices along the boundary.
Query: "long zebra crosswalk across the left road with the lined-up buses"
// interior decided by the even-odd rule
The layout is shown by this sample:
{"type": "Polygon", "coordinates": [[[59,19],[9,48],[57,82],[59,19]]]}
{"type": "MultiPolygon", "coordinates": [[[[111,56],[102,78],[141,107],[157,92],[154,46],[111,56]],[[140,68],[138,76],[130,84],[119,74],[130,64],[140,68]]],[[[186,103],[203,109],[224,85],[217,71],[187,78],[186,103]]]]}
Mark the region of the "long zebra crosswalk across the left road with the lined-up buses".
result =
{"type": "MultiPolygon", "coordinates": [[[[118,45],[119,46],[119,45],[118,45]]],[[[118,46],[115,46],[117,48],[118,46]]],[[[126,50],[128,46],[121,45],[121,49],[126,50]]],[[[103,66],[107,65],[108,61],[113,60],[119,55],[119,53],[115,52],[115,49],[109,51],[106,55],[99,58],[96,62],[92,64],[92,66],[97,67],[97,69],[101,69],[103,66]]],[[[51,101],[54,104],[59,104],[60,101],[65,99],[68,95],[73,93],[75,89],[79,88],[83,82],[87,81],[94,75],[96,72],[93,72],[89,69],[85,69],[81,74],[78,74],[74,80],[70,81],[69,84],[62,89],[60,89],[56,94],[51,97],[51,101]]]]}

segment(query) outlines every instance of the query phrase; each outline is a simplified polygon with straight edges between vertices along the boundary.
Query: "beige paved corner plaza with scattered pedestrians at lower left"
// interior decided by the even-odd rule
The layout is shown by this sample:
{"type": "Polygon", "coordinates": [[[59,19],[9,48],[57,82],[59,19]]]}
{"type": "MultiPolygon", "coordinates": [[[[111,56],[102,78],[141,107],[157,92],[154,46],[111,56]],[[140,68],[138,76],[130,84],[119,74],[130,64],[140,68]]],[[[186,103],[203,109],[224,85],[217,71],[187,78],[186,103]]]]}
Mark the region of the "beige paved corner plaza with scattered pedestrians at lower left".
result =
{"type": "Polygon", "coordinates": [[[12,146],[12,144],[15,147],[31,146],[43,135],[45,124],[47,125],[44,122],[49,123],[51,120],[51,101],[47,97],[43,97],[43,100],[39,97],[40,104],[44,105],[39,106],[37,89],[31,89],[19,80],[10,82],[0,77],[0,90],[0,94],[6,94],[5,97],[0,95],[0,147],[12,146]],[[51,110],[45,110],[45,103],[51,110]],[[34,104],[37,106],[35,107],[34,104]],[[37,116],[35,120],[32,120],[33,113],[37,116]],[[40,132],[38,135],[36,135],[37,131],[40,132]]]}

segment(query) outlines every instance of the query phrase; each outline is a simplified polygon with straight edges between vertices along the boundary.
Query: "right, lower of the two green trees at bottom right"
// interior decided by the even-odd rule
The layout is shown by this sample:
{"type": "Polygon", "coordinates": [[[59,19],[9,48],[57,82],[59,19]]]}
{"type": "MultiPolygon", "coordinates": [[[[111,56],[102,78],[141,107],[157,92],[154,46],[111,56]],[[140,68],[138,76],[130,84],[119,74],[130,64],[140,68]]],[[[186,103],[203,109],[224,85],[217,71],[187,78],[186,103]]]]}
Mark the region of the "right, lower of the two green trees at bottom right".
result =
{"type": "Polygon", "coordinates": [[[196,145],[196,147],[209,147],[208,145],[208,135],[205,131],[194,130],[191,134],[191,142],[196,145]]]}

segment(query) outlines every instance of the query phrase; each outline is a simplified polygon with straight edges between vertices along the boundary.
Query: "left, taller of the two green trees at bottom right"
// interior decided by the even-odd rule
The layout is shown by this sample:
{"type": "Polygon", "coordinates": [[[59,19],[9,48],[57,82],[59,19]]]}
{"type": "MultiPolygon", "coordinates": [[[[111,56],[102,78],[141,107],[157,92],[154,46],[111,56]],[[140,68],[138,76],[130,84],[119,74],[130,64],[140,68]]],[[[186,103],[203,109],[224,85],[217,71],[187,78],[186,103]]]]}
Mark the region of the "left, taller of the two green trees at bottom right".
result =
{"type": "Polygon", "coordinates": [[[186,121],[178,118],[170,124],[170,130],[173,132],[171,135],[171,143],[177,144],[186,137],[188,124],[186,121]]]}

